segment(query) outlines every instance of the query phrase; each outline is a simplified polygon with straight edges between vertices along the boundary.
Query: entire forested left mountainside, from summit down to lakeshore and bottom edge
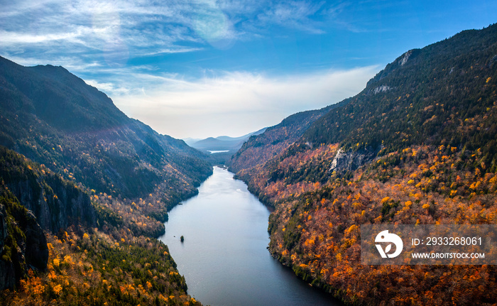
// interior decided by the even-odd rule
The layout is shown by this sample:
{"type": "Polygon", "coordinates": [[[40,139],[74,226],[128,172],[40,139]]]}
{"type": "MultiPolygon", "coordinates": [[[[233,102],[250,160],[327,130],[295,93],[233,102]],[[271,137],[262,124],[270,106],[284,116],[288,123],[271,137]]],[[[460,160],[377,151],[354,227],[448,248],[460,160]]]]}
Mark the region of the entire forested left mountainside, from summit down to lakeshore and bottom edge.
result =
{"type": "Polygon", "coordinates": [[[199,305],[164,232],[212,173],[62,67],[0,58],[1,305],[199,305]]]}

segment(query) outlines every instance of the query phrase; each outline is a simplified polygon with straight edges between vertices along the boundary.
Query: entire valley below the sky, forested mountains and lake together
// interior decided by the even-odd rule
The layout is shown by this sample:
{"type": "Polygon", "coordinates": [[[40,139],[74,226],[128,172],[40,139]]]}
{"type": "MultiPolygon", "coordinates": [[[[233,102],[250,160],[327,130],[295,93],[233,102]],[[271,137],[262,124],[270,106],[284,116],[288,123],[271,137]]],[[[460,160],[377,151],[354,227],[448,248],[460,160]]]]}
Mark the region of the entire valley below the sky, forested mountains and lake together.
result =
{"type": "Polygon", "coordinates": [[[496,139],[496,24],[190,146],[64,67],[0,58],[0,303],[494,305],[496,266],[364,265],[360,226],[497,224],[496,139]]]}

